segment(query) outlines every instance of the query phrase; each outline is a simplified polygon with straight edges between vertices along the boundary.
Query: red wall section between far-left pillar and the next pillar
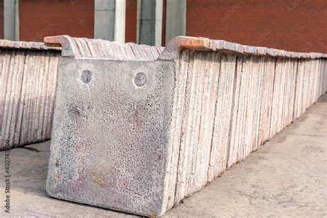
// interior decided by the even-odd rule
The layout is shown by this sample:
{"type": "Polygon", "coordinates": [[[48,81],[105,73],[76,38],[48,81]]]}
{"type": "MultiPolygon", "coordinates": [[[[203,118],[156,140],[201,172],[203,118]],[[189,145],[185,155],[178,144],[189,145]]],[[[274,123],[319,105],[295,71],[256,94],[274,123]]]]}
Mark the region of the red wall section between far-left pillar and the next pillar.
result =
{"type": "Polygon", "coordinates": [[[94,36],[93,0],[19,1],[19,40],[43,41],[43,37],[68,34],[94,36]]]}

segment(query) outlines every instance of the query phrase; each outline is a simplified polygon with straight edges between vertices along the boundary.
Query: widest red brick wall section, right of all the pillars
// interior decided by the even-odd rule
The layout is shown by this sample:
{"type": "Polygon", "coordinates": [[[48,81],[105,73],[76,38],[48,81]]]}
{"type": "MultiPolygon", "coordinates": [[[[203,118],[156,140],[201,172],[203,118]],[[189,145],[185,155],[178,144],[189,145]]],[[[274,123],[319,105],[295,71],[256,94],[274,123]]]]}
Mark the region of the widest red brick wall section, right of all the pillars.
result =
{"type": "Polygon", "coordinates": [[[188,0],[186,34],[327,53],[327,1],[188,0]]]}

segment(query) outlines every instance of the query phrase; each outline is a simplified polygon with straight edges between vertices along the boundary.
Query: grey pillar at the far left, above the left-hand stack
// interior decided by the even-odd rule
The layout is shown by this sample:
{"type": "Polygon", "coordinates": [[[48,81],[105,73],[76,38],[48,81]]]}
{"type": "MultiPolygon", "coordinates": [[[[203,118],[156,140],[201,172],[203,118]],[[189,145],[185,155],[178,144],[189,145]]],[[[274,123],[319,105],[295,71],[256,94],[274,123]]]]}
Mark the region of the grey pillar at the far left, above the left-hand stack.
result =
{"type": "Polygon", "coordinates": [[[3,1],[3,37],[19,40],[19,0],[3,1]]]}

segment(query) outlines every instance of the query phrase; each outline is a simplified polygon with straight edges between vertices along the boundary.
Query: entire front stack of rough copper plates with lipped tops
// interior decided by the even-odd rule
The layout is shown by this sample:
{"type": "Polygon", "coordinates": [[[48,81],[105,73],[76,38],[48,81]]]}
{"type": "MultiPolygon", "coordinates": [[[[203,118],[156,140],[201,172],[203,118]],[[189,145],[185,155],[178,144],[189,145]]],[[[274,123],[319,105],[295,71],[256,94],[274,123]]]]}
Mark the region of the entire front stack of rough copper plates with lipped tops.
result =
{"type": "Polygon", "coordinates": [[[81,40],[46,38],[63,47],[47,190],[83,204],[162,215],[327,91],[325,54],[177,37],[93,56],[81,40]]]}

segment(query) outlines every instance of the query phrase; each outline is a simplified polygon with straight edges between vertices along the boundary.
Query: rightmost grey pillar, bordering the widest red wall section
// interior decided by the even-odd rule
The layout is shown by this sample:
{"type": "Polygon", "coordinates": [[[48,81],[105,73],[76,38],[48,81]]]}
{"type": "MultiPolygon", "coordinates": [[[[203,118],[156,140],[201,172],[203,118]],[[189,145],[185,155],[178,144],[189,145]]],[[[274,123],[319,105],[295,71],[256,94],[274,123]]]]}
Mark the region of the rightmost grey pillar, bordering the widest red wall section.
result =
{"type": "Polygon", "coordinates": [[[186,34],[186,0],[167,0],[166,44],[170,39],[186,34]]]}

